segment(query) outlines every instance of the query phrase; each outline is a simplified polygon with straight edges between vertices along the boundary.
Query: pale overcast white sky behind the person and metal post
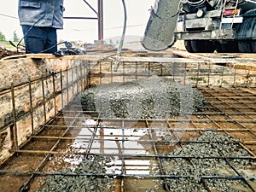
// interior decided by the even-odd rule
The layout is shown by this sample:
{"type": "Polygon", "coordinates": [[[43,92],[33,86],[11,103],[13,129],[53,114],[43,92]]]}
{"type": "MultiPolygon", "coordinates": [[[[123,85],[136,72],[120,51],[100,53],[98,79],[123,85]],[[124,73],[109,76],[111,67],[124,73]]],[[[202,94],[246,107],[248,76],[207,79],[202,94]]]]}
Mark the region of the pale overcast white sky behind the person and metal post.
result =
{"type": "MultiPolygon", "coordinates": [[[[97,10],[97,0],[87,0],[97,10]]],[[[0,32],[7,40],[13,38],[13,32],[22,37],[17,13],[18,0],[9,0],[1,3],[0,32]],[[6,16],[8,15],[8,16],[6,16]],[[11,17],[9,17],[11,16],[11,17]]],[[[125,0],[128,12],[126,36],[142,37],[149,17],[149,10],[154,6],[154,0],[125,0]]],[[[64,0],[64,16],[96,17],[96,14],[83,0],[64,0]]],[[[123,31],[124,12],[121,0],[103,0],[104,38],[119,37],[123,31]]],[[[82,40],[93,43],[98,37],[97,20],[64,20],[64,30],[58,31],[61,40],[82,40]]]]}

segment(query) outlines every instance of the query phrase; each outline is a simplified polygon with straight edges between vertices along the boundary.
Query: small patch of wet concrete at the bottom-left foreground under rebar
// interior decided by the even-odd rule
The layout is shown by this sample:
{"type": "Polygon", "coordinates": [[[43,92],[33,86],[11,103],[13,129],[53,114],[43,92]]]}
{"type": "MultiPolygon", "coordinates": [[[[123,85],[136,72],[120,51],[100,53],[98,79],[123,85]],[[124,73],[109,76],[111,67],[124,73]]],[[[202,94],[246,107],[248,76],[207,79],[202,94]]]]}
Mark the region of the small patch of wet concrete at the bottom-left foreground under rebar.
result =
{"type": "Polygon", "coordinates": [[[86,192],[110,191],[113,189],[113,180],[107,176],[76,176],[76,174],[102,174],[106,173],[110,158],[104,156],[89,156],[73,169],[62,170],[63,175],[55,175],[46,180],[47,187],[36,192],[86,192]]]}

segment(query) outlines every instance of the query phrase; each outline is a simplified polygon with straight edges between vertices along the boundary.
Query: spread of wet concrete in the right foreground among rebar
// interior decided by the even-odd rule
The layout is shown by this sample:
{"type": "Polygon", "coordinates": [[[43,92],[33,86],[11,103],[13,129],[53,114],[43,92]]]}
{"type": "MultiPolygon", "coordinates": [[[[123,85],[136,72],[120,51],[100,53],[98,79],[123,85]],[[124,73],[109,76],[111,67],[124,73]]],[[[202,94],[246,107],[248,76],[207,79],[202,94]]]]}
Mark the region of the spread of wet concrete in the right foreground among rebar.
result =
{"type": "MultiPolygon", "coordinates": [[[[168,138],[168,137],[167,137],[168,138]]],[[[166,137],[163,139],[167,142],[166,137]]],[[[167,175],[186,176],[183,178],[167,179],[170,191],[194,192],[207,191],[201,181],[201,176],[230,176],[235,175],[231,168],[236,170],[246,169],[253,164],[246,159],[217,158],[224,157],[248,157],[247,151],[237,143],[238,141],[230,136],[220,135],[213,131],[207,131],[191,142],[177,148],[171,154],[176,157],[195,157],[195,158],[175,158],[161,160],[167,175]],[[210,157],[210,158],[207,158],[210,157]],[[212,157],[212,158],[211,158],[212,157]],[[204,159],[206,158],[206,159],[204,159]]],[[[238,179],[209,178],[204,179],[209,189],[214,191],[241,192],[247,191],[244,183],[238,179]]]]}

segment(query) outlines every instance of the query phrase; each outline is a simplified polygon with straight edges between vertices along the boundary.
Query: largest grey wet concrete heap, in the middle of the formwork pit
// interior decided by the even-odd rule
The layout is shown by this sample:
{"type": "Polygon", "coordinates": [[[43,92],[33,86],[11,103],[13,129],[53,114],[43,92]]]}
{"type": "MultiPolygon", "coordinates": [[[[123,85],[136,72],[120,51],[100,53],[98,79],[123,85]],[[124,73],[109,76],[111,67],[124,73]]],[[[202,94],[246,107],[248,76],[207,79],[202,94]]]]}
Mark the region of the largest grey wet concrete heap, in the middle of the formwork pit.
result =
{"type": "Polygon", "coordinates": [[[98,85],[82,91],[77,102],[85,111],[96,111],[109,118],[131,119],[193,113],[205,105],[199,90],[158,76],[98,85]]]}

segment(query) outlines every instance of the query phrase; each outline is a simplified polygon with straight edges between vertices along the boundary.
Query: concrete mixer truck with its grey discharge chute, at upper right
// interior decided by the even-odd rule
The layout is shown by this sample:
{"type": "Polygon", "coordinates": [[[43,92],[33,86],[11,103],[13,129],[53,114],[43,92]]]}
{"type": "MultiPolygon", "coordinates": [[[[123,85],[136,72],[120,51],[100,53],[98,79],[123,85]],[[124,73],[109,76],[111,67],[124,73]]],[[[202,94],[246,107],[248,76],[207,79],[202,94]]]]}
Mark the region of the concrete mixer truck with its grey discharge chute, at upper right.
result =
{"type": "Polygon", "coordinates": [[[256,0],[157,0],[142,44],[157,51],[176,40],[191,53],[256,53],[256,0]]]}

